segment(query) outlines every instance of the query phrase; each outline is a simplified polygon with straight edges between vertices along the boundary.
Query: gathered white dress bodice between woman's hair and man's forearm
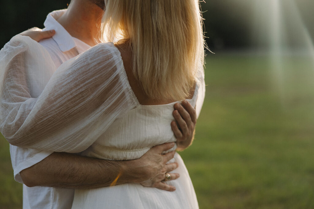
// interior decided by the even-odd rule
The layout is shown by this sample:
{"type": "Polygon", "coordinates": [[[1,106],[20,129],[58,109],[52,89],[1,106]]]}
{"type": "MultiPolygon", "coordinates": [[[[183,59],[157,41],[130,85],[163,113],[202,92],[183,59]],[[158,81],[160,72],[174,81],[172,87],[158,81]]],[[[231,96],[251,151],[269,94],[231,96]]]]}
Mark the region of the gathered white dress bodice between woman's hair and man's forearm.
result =
{"type": "MultiPolygon", "coordinates": [[[[199,87],[196,86],[192,99],[187,99],[194,107],[199,87]]],[[[157,144],[175,142],[170,123],[174,121],[172,112],[176,102],[163,105],[138,105],[124,116],[117,118],[83,155],[110,160],[138,159],[157,144]]],[[[170,152],[176,149],[176,146],[170,152]]]]}

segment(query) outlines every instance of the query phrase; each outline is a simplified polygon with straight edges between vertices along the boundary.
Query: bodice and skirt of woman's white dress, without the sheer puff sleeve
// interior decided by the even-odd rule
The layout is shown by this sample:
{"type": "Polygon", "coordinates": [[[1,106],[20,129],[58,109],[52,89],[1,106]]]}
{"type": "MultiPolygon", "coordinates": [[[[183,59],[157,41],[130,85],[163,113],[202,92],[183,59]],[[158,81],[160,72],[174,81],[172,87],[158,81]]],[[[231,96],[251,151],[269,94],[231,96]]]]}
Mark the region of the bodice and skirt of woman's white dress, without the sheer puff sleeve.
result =
{"type": "MultiPolygon", "coordinates": [[[[192,99],[187,100],[192,106],[195,106],[197,101],[203,103],[204,97],[198,97],[203,95],[199,94],[201,91],[203,88],[196,86],[192,99]]],[[[117,118],[82,154],[101,159],[131,160],[140,158],[156,144],[175,142],[176,138],[170,126],[174,120],[174,104],[175,102],[164,105],[138,105],[123,117],[117,118]]],[[[180,177],[165,183],[175,186],[174,192],[132,183],[75,190],[72,208],[198,208],[192,181],[180,155],[176,153],[168,163],[171,162],[178,163],[179,167],[172,172],[179,173],[180,177]]]]}

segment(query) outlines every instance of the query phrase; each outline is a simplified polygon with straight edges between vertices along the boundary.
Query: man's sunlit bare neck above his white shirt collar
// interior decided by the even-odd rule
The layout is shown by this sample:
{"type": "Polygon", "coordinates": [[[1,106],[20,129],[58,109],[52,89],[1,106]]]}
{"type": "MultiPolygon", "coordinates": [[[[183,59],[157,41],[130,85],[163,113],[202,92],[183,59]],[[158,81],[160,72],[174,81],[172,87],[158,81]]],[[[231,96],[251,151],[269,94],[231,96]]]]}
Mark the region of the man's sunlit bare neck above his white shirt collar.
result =
{"type": "Polygon", "coordinates": [[[68,33],[94,46],[97,44],[98,27],[103,10],[96,4],[86,0],[72,0],[68,10],[57,21],[68,33]]]}

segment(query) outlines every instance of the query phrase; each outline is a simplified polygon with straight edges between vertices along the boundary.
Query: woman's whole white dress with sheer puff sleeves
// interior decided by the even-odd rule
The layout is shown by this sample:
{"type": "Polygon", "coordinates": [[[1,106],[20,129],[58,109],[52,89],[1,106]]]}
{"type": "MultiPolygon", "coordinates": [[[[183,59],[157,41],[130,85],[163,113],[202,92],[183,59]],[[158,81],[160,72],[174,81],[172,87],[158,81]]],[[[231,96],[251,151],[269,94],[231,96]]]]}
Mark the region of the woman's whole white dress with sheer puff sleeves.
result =
{"type": "MultiPolygon", "coordinates": [[[[40,44],[17,35],[0,51],[0,64],[0,131],[14,145],[131,160],[152,146],[176,141],[170,126],[175,102],[141,105],[113,43],[98,44],[63,63],[38,97],[30,89],[42,81],[29,86],[28,76],[55,67],[40,44]]],[[[197,116],[205,93],[199,69],[200,82],[188,100],[197,116]]],[[[180,178],[165,182],[176,187],[174,192],[132,183],[75,190],[72,208],[198,208],[180,155],[169,162],[179,164],[173,172],[180,178]]]]}

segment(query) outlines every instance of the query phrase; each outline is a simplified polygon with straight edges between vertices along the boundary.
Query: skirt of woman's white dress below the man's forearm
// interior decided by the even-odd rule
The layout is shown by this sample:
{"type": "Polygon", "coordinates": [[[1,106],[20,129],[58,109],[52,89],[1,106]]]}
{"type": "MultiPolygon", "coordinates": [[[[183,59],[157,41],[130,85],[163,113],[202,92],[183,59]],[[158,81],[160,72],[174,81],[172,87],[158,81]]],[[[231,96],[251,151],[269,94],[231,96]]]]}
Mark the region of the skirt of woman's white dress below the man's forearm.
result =
{"type": "Polygon", "coordinates": [[[179,167],[172,172],[179,173],[180,177],[165,183],[175,186],[176,191],[134,183],[75,190],[72,209],[198,209],[192,181],[180,155],[176,153],[170,162],[178,163],[179,167]]]}

